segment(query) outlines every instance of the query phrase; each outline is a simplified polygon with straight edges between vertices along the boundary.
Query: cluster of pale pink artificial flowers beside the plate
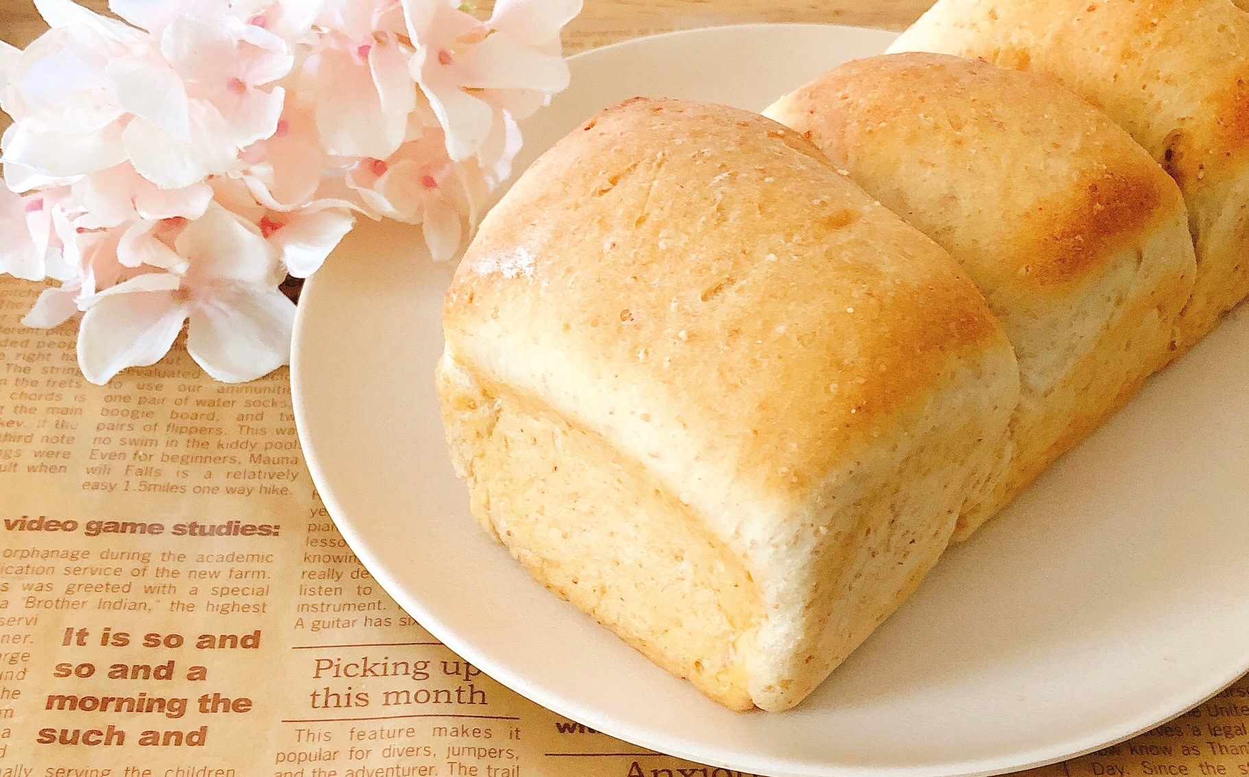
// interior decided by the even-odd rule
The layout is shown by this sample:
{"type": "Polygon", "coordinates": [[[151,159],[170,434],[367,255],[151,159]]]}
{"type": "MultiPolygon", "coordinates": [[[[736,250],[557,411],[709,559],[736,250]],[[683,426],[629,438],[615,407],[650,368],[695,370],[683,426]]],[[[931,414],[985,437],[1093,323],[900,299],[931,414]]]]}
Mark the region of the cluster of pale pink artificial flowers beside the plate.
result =
{"type": "Polygon", "coordinates": [[[24,324],[81,314],[104,384],[186,347],[214,377],[287,362],[279,290],[357,215],[463,246],[511,175],[518,119],[568,80],[580,0],[35,0],[51,27],[0,42],[0,272],[56,280],[24,324]]]}

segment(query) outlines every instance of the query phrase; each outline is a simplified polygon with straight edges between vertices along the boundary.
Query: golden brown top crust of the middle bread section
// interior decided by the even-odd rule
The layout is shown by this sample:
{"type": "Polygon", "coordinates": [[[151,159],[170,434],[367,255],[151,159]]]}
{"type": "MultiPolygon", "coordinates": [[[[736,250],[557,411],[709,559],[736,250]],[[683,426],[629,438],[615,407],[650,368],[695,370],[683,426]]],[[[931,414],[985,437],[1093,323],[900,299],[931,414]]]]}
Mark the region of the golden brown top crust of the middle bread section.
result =
{"type": "Polygon", "coordinates": [[[983,61],[856,60],[767,115],[802,131],[945,249],[974,244],[983,259],[963,257],[978,262],[973,275],[1027,294],[1099,272],[1159,214],[1183,206],[1153,159],[1103,112],[1049,79],[983,61]]]}

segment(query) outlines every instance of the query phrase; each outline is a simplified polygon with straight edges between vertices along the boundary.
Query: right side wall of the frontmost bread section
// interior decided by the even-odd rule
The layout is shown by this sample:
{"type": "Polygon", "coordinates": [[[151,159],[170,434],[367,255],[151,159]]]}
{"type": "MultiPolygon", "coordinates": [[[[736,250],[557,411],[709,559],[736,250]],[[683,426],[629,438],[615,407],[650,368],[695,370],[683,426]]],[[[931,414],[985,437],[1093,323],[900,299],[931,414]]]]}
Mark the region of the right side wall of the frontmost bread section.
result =
{"type": "Polygon", "coordinates": [[[802,701],[911,597],[998,462],[1018,402],[1014,355],[1003,341],[949,356],[881,445],[829,472],[771,551],[756,550],[773,570],[749,672],[759,707],[802,701]]]}

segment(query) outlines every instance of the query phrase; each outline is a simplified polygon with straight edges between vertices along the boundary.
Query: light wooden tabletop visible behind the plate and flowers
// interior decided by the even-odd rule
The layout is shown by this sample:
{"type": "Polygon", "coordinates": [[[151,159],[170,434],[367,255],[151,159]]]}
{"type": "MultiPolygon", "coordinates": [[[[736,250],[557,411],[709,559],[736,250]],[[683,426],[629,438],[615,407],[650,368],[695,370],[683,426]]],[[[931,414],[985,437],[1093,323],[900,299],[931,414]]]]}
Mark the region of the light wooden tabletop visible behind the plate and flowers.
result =
{"type": "MultiPolygon", "coordinates": [[[[81,0],[102,11],[106,0],[81,0]]],[[[487,6],[490,2],[480,5],[487,6]]],[[[901,30],[932,0],[586,0],[565,34],[566,51],[662,30],[751,21],[814,21],[901,30]]],[[[25,46],[46,29],[32,0],[0,0],[0,39],[25,46]]]]}

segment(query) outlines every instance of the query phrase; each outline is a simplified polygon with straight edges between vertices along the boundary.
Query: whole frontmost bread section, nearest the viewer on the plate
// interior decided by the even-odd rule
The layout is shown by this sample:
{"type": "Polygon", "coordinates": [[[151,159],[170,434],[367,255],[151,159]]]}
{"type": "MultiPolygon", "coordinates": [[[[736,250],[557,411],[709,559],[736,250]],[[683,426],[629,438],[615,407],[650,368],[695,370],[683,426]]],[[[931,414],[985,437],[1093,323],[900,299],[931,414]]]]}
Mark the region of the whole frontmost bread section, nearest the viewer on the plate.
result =
{"type": "Polygon", "coordinates": [[[798,132],[677,100],[535,162],[443,322],[476,517],[736,710],[792,707],[909,596],[1019,398],[943,249],[798,132]]]}

